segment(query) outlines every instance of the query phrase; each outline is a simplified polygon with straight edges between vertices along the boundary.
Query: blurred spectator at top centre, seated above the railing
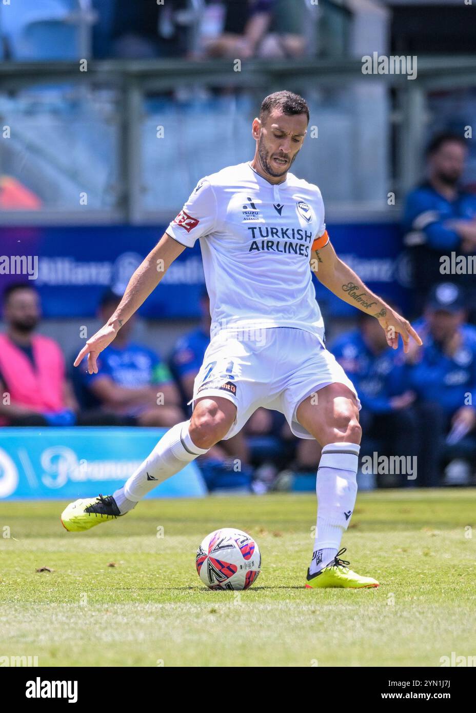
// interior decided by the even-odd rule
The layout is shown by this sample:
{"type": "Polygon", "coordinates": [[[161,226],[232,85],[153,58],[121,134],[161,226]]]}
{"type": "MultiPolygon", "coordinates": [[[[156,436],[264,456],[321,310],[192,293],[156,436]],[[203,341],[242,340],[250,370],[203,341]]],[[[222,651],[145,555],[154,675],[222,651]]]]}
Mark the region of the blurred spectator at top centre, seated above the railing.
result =
{"type": "Polygon", "coordinates": [[[296,26],[296,18],[303,18],[304,4],[296,0],[224,0],[223,4],[224,31],[205,43],[208,56],[280,58],[304,53],[299,20],[296,26]]]}

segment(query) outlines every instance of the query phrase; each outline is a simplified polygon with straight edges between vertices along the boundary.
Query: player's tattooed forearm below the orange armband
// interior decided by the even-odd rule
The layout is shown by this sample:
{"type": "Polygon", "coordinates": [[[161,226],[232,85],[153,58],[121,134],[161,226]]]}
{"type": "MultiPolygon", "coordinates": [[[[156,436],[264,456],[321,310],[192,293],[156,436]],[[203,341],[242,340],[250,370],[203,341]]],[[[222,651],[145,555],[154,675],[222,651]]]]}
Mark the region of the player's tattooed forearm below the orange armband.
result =
{"type": "Polygon", "coordinates": [[[336,255],[330,241],[319,250],[311,252],[310,263],[311,270],[324,287],[330,289],[343,302],[353,304],[361,312],[371,314],[378,319],[382,329],[385,330],[389,347],[397,349],[398,334],[402,337],[405,353],[410,347],[410,337],[418,346],[423,344],[410,322],[368,289],[360,277],[336,255]]]}

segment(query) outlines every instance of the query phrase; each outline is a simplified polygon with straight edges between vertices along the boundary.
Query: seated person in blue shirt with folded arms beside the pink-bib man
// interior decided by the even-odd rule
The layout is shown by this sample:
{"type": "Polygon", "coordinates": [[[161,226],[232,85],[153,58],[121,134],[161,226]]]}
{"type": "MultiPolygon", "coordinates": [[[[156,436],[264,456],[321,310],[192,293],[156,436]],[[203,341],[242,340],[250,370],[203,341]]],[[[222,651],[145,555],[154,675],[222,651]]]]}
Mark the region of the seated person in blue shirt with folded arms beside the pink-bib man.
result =
{"type": "MultiPolygon", "coordinates": [[[[120,302],[108,290],[100,303],[100,319],[107,322],[120,302]]],[[[138,426],[173,426],[183,420],[180,396],[170,371],[148,347],[130,341],[135,319],[120,328],[113,344],[98,357],[98,374],[88,374],[81,364],[81,380],[90,409],[125,416],[138,426]]]]}

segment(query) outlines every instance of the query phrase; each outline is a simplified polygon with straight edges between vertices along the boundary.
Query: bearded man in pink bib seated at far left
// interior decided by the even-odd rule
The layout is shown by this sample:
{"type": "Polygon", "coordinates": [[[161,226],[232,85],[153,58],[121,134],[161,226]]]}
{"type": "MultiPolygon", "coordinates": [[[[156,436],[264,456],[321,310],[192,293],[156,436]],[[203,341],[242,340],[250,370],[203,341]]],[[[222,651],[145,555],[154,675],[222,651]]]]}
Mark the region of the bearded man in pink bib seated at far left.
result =
{"type": "Polygon", "coordinates": [[[71,426],[78,408],[61,348],[35,330],[41,319],[32,284],[4,292],[6,332],[0,334],[0,422],[10,426],[71,426]]]}

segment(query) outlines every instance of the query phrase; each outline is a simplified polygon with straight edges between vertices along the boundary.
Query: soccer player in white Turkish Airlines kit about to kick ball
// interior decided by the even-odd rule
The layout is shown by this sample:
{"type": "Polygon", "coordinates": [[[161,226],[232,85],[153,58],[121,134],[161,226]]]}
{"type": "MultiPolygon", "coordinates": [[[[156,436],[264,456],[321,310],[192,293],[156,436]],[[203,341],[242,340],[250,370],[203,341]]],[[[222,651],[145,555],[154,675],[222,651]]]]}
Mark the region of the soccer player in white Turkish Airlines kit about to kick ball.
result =
{"type": "Polygon", "coordinates": [[[289,91],[264,99],[252,123],[252,161],[223,168],[197,183],[156,247],[131,277],[107,324],[79,352],[97,373],[98,354],[152,292],[175,258],[200,240],[212,316],[211,341],[195,379],[189,421],[173,426],[112,496],[71,503],[67,530],[87,530],[125,515],[152,488],[238,433],[264,406],[286,416],[299,438],[322,448],[314,553],[306,587],[377,587],[340,559],[343,532],[356,501],[360,402],[342,367],[324,346],[324,322],[311,281],[378,319],[390,346],[405,352],[410,324],[373,294],[336,256],[316,185],[289,168],[309,123],[306,101],[289,91]]]}

